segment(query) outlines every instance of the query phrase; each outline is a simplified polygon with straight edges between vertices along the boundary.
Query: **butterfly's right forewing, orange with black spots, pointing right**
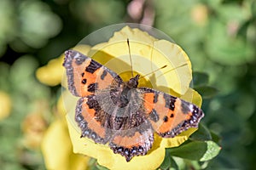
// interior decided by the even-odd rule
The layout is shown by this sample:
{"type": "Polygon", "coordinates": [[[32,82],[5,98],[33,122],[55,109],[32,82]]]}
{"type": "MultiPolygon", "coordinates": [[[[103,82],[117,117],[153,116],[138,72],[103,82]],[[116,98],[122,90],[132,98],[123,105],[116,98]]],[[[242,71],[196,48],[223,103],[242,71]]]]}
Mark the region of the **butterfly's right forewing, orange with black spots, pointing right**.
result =
{"type": "Polygon", "coordinates": [[[164,138],[173,138],[189,127],[198,127],[204,113],[196,105],[156,91],[139,88],[143,94],[144,108],[154,131],[164,138]]]}

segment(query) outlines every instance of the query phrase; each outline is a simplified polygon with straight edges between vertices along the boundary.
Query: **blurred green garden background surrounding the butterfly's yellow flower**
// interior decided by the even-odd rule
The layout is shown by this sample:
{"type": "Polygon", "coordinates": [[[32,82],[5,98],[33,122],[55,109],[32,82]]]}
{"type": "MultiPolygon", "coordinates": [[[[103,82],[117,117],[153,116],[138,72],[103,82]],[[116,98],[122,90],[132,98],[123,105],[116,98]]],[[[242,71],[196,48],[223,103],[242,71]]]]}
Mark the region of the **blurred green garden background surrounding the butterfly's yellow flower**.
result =
{"type": "Polygon", "coordinates": [[[46,168],[45,136],[62,113],[61,77],[44,74],[90,32],[123,22],[154,26],[189,55],[202,122],[222,146],[206,168],[255,168],[255,1],[1,0],[0,169],[46,168]]]}

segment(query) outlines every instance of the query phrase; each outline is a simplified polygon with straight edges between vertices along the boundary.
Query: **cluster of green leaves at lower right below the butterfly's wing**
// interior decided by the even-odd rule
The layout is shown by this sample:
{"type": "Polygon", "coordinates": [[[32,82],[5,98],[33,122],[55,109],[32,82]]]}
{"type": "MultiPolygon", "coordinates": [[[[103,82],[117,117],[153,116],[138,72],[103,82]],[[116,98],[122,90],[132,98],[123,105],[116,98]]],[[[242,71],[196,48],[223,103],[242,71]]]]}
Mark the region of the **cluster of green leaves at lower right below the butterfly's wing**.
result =
{"type": "Polygon", "coordinates": [[[182,166],[181,164],[183,164],[183,167],[187,167],[191,164],[193,167],[202,168],[201,165],[198,164],[199,162],[209,161],[215,156],[218,156],[221,150],[218,143],[218,136],[215,137],[215,134],[212,134],[206,126],[200,123],[199,129],[190,136],[188,141],[178,147],[166,149],[166,157],[160,168],[168,169],[172,167],[178,169],[182,166]],[[212,137],[212,135],[214,136],[212,137]],[[176,157],[183,158],[186,161],[175,161],[176,157]],[[179,166],[177,166],[177,164],[179,164],[179,166]]]}

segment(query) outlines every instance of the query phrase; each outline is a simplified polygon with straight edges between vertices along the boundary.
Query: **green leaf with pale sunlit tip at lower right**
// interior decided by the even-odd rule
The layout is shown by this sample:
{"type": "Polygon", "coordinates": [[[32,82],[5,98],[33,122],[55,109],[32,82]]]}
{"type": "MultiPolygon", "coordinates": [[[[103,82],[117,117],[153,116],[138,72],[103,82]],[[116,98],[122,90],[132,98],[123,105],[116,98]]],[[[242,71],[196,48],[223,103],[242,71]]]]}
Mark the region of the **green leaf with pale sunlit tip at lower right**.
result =
{"type": "Polygon", "coordinates": [[[221,148],[212,141],[191,141],[176,148],[170,148],[172,156],[194,161],[208,161],[217,156],[221,148]]]}

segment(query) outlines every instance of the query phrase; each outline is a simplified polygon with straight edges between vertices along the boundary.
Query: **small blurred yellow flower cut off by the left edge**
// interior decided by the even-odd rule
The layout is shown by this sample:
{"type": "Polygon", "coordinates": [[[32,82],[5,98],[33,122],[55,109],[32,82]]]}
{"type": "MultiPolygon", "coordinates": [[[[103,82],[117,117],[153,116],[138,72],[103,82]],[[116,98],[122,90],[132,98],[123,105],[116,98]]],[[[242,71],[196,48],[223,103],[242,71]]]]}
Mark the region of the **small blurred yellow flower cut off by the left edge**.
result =
{"type": "Polygon", "coordinates": [[[11,99],[9,94],[0,91],[0,120],[9,116],[11,111],[11,99]]]}

